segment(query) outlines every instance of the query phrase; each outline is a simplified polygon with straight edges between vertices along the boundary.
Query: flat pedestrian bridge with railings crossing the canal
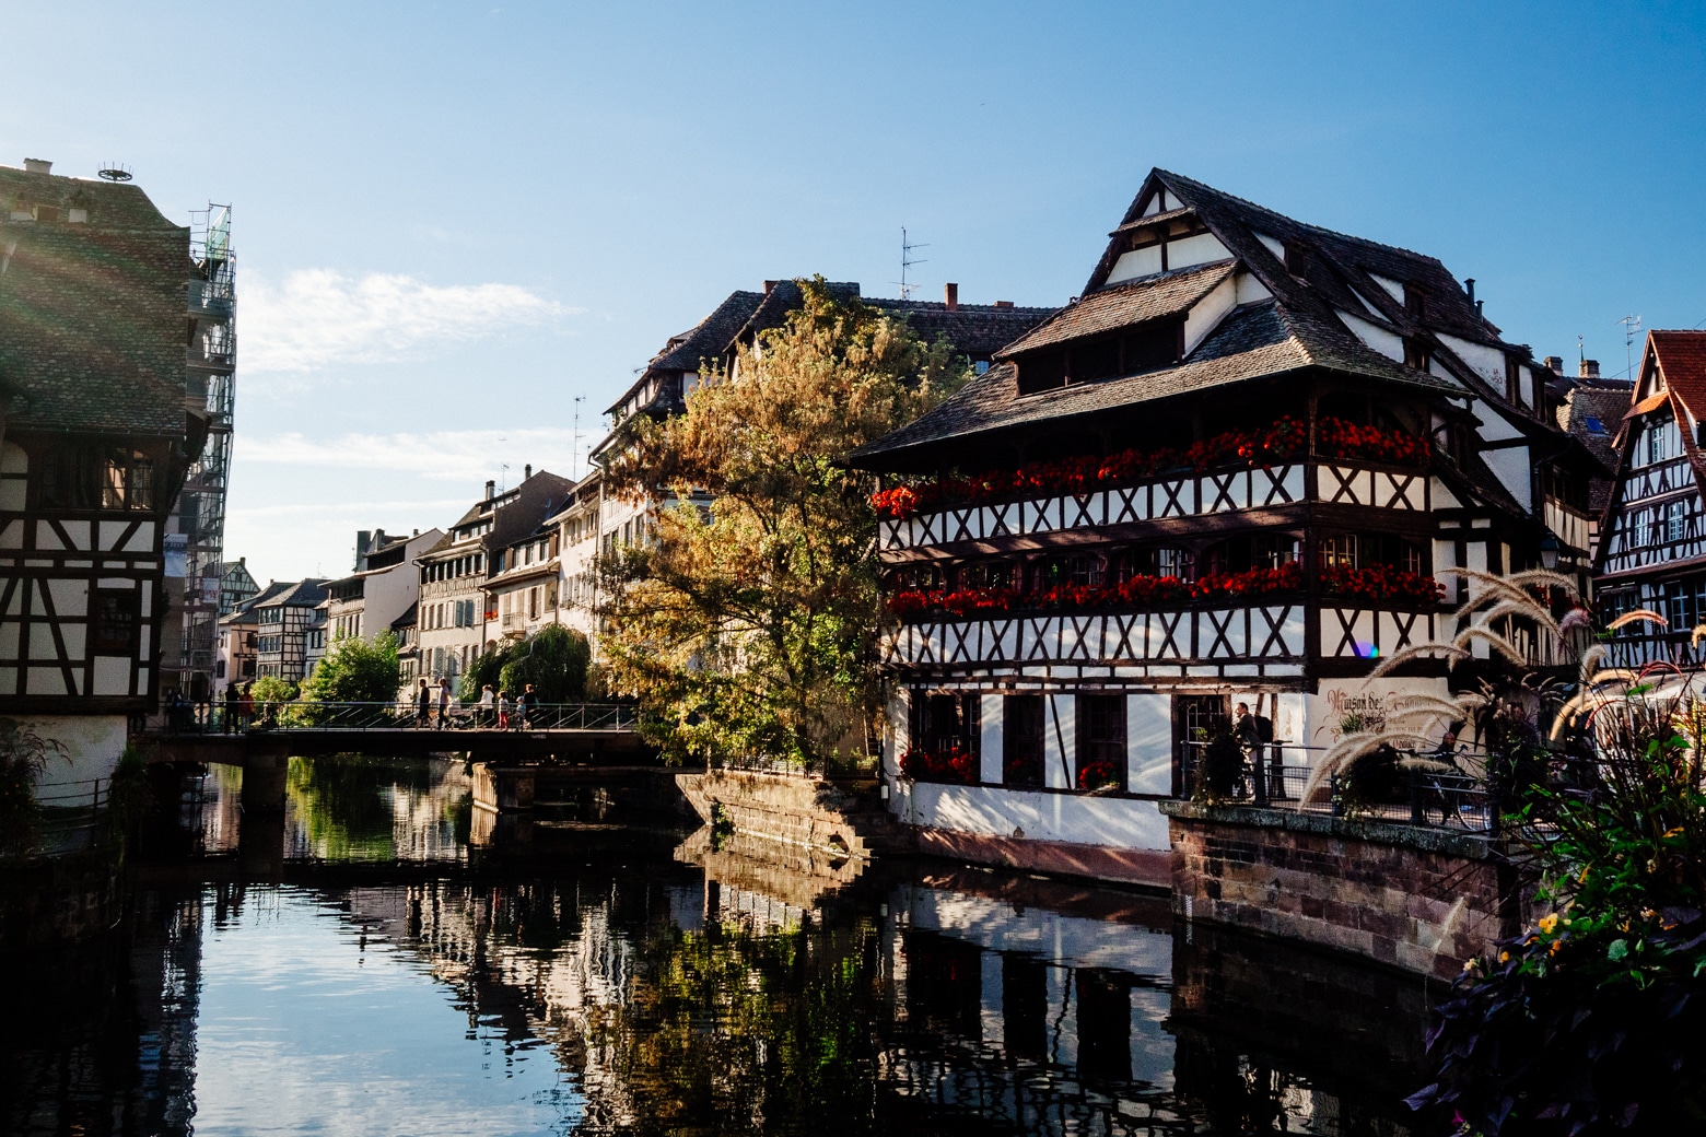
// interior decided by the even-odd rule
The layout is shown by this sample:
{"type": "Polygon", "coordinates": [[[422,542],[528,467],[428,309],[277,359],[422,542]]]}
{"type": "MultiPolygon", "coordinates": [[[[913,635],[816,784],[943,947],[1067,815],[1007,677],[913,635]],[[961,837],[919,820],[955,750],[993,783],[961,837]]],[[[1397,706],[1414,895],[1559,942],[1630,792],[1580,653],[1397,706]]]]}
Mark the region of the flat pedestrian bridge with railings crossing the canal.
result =
{"type": "Polygon", "coordinates": [[[633,760],[650,753],[636,730],[635,707],[599,702],[541,704],[500,721],[483,707],[452,707],[425,716],[397,702],[256,702],[169,707],[162,730],[143,735],[150,762],[368,753],[418,757],[466,753],[469,760],[548,759],[560,762],[633,760]]]}

